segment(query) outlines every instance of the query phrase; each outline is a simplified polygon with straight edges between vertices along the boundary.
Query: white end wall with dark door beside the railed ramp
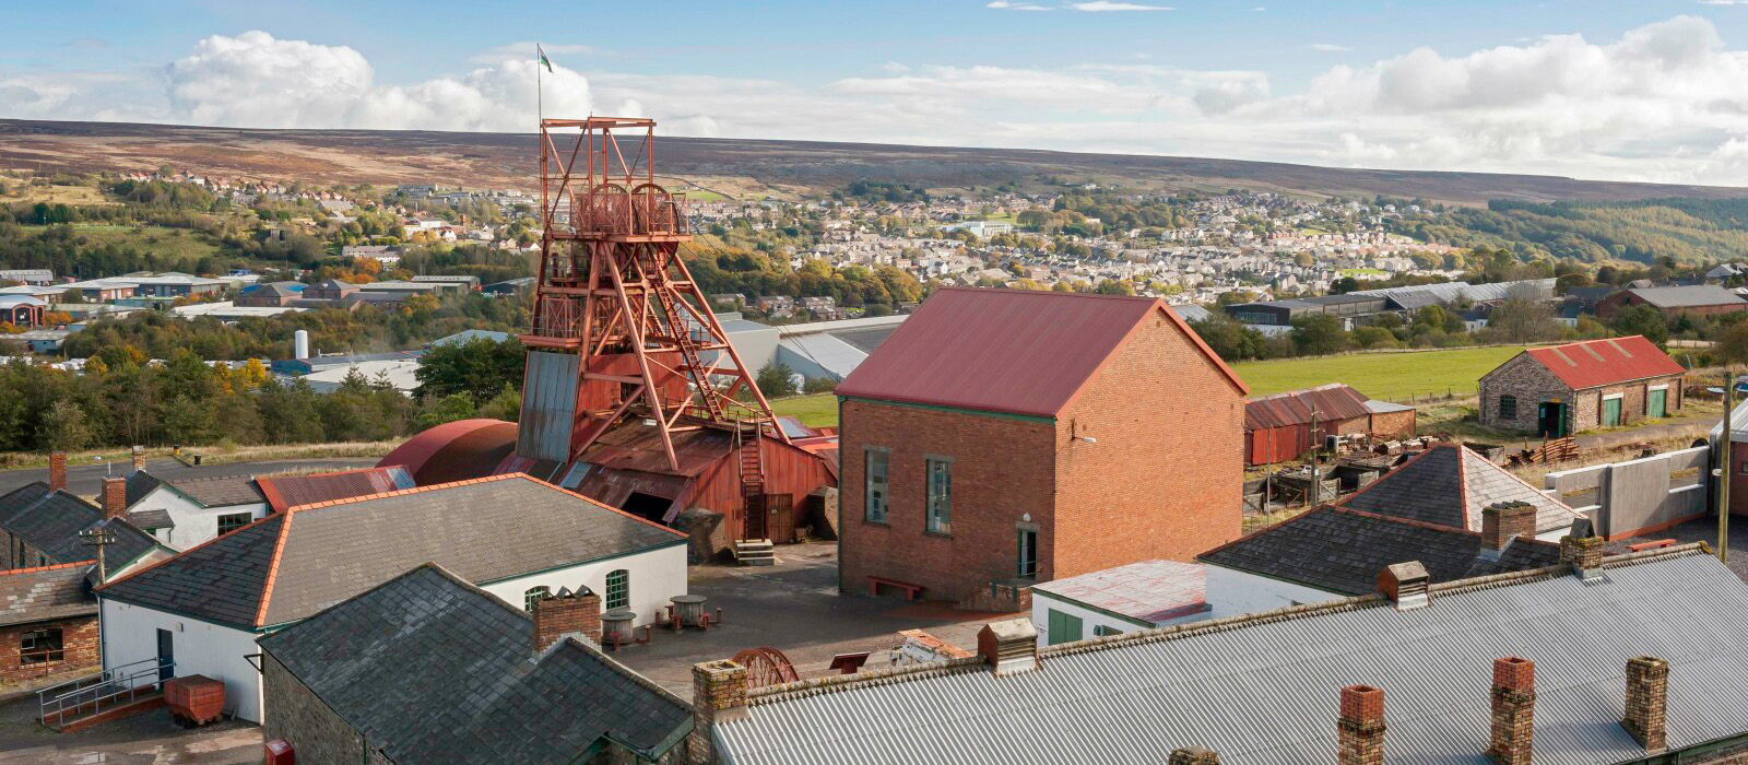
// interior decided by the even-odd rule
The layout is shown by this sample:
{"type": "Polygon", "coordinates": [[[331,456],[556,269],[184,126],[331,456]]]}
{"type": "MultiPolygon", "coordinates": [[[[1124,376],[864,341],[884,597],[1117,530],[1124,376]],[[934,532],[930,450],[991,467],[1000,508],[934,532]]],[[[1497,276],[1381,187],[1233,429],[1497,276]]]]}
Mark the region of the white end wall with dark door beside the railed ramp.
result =
{"type": "Polygon", "coordinates": [[[260,672],[245,658],[260,651],[255,632],[112,599],[101,599],[101,613],[105,669],[157,658],[157,631],[166,629],[175,646],[177,676],[205,674],[222,681],[225,707],[252,723],[264,721],[260,672]]]}

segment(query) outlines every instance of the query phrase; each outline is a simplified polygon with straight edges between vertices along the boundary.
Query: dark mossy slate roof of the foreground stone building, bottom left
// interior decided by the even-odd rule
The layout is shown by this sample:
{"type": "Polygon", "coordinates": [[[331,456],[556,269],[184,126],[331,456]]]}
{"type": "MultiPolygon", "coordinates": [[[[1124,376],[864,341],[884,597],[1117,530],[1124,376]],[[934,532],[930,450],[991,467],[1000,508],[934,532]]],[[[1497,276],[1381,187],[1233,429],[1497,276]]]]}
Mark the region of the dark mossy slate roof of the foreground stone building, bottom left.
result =
{"type": "Polygon", "coordinates": [[[687,704],[593,644],[535,657],[531,632],[425,564],[260,646],[399,765],[570,765],[603,737],[654,762],[692,730],[687,704]]]}

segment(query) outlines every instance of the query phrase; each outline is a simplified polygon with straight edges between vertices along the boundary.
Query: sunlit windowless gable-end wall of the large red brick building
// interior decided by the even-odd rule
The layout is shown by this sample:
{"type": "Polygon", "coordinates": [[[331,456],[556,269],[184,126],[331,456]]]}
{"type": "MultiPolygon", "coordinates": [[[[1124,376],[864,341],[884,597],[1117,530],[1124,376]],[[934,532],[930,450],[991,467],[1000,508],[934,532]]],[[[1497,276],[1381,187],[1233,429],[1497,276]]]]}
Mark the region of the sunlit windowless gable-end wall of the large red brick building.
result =
{"type": "Polygon", "coordinates": [[[1056,576],[1192,561],[1239,536],[1245,398],[1164,316],[1092,377],[1056,438],[1056,576]]]}

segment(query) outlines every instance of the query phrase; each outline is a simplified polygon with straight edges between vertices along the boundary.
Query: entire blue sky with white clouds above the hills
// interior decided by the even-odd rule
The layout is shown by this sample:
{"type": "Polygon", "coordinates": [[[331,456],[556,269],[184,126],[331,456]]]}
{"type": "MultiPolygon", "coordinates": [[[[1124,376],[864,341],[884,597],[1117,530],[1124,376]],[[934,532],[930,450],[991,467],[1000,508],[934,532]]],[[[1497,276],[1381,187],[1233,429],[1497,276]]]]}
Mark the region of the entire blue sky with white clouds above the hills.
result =
{"type": "Polygon", "coordinates": [[[682,134],[1748,183],[1748,0],[58,2],[7,17],[0,117],[528,129],[538,38],[559,66],[549,114],[635,110],[682,134]]]}

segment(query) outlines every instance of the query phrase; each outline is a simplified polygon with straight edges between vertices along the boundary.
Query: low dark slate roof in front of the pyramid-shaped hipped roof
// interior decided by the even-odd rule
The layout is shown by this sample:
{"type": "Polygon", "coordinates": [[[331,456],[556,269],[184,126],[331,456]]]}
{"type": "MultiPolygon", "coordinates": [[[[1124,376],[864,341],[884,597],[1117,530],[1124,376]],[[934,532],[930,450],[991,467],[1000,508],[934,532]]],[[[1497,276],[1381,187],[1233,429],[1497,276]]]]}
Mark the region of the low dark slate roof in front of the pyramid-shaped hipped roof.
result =
{"type": "Polygon", "coordinates": [[[1559,562],[1559,545],[1517,538],[1496,552],[1474,531],[1321,507],[1197,555],[1197,561],[1306,587],[1363,596],[1377,571],[1419,561],[1433,582],[1559,562]]]}

